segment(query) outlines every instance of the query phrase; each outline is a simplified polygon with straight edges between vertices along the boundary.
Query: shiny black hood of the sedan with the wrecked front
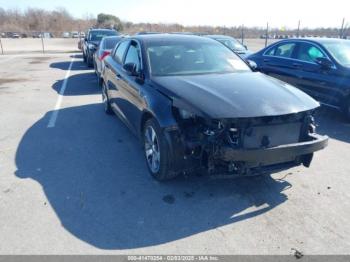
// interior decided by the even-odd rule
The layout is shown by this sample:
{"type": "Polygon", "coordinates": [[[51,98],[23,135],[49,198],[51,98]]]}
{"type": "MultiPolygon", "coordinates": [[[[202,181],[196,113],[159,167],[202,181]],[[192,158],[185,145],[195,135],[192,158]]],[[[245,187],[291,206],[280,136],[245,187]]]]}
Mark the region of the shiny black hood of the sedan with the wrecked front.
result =
{"type": "Polygon", "coordinates": [[[152,77],[176,107],[211,118],[246,118],[312,110],[319,103],[299,89],[261,73],[152,77]]]}

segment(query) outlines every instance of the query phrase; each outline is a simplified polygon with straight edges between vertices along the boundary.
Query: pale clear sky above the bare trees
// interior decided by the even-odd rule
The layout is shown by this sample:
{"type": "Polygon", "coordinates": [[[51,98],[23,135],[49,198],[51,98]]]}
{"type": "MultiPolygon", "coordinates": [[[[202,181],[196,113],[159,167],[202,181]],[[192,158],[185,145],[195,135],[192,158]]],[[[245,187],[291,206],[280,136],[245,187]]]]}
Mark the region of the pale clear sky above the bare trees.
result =
{"type": "Polygon", "coordinates": [[[340,27],[350,26],[349,0],[0,0],[0,7],[65,7],[73,16],[111,13],[131,22],[184,25],[340,27]]]}

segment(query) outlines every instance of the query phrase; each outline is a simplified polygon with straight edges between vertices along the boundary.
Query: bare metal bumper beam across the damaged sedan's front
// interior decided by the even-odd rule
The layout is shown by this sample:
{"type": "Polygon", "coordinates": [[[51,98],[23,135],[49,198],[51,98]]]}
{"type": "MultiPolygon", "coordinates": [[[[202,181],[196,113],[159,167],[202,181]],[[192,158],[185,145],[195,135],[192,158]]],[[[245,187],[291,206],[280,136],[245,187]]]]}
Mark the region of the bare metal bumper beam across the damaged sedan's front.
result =
{"type": "MultiPolygon", "coordinates": [[[[220,159],[228,162],[250,162],[258,166],[283,163],[300,156],[310,155],[328,145],[328,137],[317,134],[310,134],[309,140],[305,142],[280,145],[271,148],[261,149],[234,149],[223,147],[220,152],[220,159]]],[[[307,163],[303,163],[308,165],[307,163]]]]}

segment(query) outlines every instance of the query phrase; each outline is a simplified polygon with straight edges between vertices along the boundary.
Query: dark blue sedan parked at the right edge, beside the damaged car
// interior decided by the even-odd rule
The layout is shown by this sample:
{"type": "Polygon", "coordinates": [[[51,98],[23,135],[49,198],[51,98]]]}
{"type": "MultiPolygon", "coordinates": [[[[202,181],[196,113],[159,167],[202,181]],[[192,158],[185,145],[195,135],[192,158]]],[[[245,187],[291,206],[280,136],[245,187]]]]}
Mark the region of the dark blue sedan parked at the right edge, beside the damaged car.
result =
{"type": "Polygon", "coordinates": [[[350,42],[289,39],[248,57],[257,70],[300,88],[350,120],[350,42]]]}

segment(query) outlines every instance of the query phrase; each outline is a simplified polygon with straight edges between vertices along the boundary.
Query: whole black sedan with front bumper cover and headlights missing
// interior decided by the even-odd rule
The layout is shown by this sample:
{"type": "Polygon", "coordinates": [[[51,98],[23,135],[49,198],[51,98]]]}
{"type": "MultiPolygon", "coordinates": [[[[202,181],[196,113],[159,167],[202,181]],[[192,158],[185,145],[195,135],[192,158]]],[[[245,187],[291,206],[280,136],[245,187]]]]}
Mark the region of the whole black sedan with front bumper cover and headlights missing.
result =
{"type": "Polygon", "coordinates": [[[141,139],[150,173],[248,176],[309,166],[328,142],[319,104],[254,73],[215,40],[186,35],[123,39],[105,59],[103,101],[141,139]]]}

